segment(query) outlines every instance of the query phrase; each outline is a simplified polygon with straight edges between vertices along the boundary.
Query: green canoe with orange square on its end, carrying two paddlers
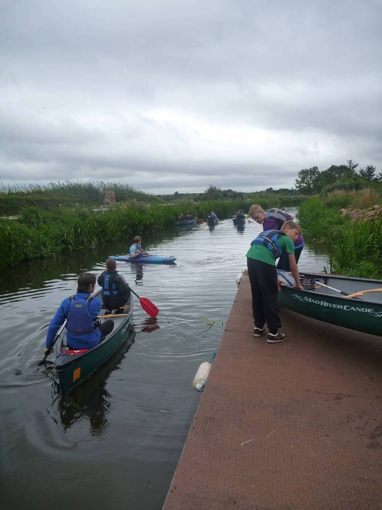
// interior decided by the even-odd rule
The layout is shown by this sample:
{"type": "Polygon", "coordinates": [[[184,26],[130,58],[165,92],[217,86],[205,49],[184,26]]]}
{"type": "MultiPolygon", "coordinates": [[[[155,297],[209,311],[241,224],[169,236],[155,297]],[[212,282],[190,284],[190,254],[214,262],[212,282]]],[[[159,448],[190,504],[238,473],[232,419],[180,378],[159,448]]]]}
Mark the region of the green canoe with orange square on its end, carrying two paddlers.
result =
{"type": "MultiPolygon", "coordinates": [[[[99,289],[95,295],[101,292],[102,289],[99,289]]],[[[65,346],[66,329],[63,329],[56,342],[57,355],[54,361],[54,366],[59,376],[61,393],[70,392],[87,379],[102,363],[108,360],[126,340],[132,325],[132,294],[130,294],[125,307],[123,314],[106,316],[106,318],[114,320],[114,329],[102,342],[91,349],[69,350],[68,347],[65,346]]],[[[105,310],[102,309],[99,315],[105,315],[105,310]]],[[[101,318],[101,320],[106,319],[101,318]]]]}

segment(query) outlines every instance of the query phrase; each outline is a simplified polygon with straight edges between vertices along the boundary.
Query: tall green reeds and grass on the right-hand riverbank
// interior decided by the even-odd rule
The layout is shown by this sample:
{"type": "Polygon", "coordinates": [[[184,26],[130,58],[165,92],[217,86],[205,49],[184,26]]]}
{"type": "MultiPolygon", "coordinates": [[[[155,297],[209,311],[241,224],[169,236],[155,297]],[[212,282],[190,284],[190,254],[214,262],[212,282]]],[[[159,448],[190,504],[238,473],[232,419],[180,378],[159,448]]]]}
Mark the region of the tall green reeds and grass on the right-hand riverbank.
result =
{"type": "Polygon", "coordinates": [[[331,272],[382,279],[382,220],[350,222],[338,212],[378,203],[375,194],[367,196],[368,192],[341,192],[311,198],[302,203],[298,216],[303,233],[327,244],[331,272]]]}

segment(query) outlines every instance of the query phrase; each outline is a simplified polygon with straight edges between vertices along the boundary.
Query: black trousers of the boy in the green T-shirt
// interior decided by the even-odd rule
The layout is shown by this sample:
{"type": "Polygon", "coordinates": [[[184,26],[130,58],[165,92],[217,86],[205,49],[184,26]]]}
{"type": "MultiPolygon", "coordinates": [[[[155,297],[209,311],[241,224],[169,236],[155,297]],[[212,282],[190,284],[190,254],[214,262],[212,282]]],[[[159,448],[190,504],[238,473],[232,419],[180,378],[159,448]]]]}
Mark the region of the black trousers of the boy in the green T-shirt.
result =
{"type": "Polygon", "coordinates": [[[268,324],[269,333],[281,327],[276,266],[247,257],[252,291],[252,310],[256,327],[268,324]]]}

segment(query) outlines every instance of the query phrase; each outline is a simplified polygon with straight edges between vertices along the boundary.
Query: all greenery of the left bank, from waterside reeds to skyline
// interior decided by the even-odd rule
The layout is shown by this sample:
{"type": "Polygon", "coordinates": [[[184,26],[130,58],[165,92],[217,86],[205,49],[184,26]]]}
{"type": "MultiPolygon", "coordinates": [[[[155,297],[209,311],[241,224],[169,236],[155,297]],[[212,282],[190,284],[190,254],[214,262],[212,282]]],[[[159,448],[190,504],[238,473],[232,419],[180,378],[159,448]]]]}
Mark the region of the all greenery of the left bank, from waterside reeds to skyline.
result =
{"type": "MultiPolygon", "coordinates": [[[[40,197],[44,207],[41,207],[40,203],[32,207],[24,206],[17,211],[17,220],[0,220],[0,267],[8,267],[23,260],[52,257],[56,253],[91,248],[122,238],[132,240],[135,235],[144,237],[150,232],[173,225],[179,213],[191,212],[198,218],[206,219],[209,211],[214,211],[218,217],[227,218],[241,208],[248,212],[253,203],[240,200],[200,202],[182,200],[174,205],[164,205],[158,204],[155,200],[148,202],[147,197],[150,195],[146,194],[143,194],[145,200],[142,200],[139,192],[122,186],[121,193],[122,191],[131,193],[129,200],[117,203],[102,214],[96,214],[91,206],[53,207],[54,203],[69,201],[70,196],[72,202],[95,199],[99,196],[99,189],[91,183],[51,185],[46,189],[29,187],[24,191],[11,190],[7,196],[10,198],[18,196],[20,200],[17,202],[18,205],[34,203],[33,200],[40,197]],[[135,196],[134,193],[138,195],[135,196]]],[[[3,206],[4,198],[4,195],[0,196],[0,203],[3,203],[3,206]]],[[[291,197],[256,198],[256,203],[264,209],[296,205],[291,197]]],[[[3,213],[4,211],[10,212],[7,207],[3,207],[3,213]]]]}

